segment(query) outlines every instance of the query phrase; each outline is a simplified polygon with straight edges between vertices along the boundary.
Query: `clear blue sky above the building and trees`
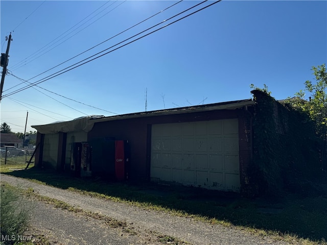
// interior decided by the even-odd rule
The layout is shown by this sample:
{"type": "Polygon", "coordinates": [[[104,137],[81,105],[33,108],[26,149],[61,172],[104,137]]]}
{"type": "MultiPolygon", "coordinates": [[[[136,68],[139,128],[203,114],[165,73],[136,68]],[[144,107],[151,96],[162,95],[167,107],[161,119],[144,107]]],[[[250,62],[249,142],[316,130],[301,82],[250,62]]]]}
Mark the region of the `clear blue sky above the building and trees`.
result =
{"type": "MultiPolygon", "coordinates": [[[[38,84],[42,88],[14,93],[26,86],[18,78],[42,81],[201,2],[176,3],[1,1],[2,53],[10,32],[13,39],[1,123],[24,132],[27,111],[27,131],[34,130],[31,125],[85,115],[141,112],[146,90],[148,111],[249,99],[251,83],[266,84],[280,100],[303,89],[306,80],[314,82],[311,67],[326,63],[326,1],[221,1],[38,84]]],[[[142,35],[212,3],[207,1],[142,35]]]]}

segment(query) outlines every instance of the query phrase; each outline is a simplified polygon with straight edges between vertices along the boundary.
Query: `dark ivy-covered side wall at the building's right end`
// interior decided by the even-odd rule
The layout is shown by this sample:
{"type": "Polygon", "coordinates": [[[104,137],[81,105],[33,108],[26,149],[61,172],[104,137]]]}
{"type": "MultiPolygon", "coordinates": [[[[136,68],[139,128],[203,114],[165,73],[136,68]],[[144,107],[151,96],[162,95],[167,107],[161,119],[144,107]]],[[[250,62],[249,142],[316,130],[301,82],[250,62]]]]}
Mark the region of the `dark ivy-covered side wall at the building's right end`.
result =
{"type": "Polygon", "coordinates": [[[300,188],[301,179],[320,170],[319,138],[305,114],[287,108],[261,90],[253,90],[253,191],[278,194],[300,188]]]}

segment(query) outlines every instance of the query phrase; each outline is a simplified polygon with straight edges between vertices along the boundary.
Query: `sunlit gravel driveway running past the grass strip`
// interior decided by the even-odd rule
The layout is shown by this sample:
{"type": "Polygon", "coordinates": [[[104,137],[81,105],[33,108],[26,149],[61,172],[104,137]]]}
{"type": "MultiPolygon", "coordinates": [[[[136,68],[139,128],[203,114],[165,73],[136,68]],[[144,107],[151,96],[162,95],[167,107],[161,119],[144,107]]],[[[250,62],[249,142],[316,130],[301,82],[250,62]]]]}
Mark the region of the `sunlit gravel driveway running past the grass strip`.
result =
{"type": "Polygon", "coordinates": [[[31,187],[34,192],[45,197],[63,201],[87,212],[99,213],[102,217],[118,219],[125,222],[128,230],[132,231],[124,232],[119,227],[109,227],[105,220],[34,201],[36,208],[32,227],[62,244],[163,244],[165,242],[159,240],[159,237],[164,236],[194,245],[288,244],[284,241],[275,241],[269,236],[252,235],[235,227],[211,225],[188,217],[145,210],[8,175],[1,175],[1,181],[20,188],[31,187]]]}

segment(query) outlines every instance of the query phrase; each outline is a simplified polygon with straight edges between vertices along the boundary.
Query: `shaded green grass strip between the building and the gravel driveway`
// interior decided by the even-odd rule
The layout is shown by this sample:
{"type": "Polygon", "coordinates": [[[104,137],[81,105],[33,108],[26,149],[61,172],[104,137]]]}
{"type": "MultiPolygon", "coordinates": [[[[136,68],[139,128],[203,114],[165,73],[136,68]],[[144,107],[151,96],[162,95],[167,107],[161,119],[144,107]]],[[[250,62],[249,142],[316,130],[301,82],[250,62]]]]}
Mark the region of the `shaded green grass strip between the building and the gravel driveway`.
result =
{"type": "MultiPolygon", "coordinates": [[[[190,216],[212,224],[235,225],[257,235],[273,235],[275,239],[302,244],[327,244],[326,181],[315,183],[322,188],[314,195],[285,193],[279,199],[247,199],[235,193],[199,188],[149,184],[110,183],[101,179],[82,179],[50,170],[1,172],[78,191],[98,198],[125,202],[135,206],[190,216]],[[317,194],[318,193],[318,194],[317,194]]],[[[317,188],[318,188],[317,187],[317,188]]]]}

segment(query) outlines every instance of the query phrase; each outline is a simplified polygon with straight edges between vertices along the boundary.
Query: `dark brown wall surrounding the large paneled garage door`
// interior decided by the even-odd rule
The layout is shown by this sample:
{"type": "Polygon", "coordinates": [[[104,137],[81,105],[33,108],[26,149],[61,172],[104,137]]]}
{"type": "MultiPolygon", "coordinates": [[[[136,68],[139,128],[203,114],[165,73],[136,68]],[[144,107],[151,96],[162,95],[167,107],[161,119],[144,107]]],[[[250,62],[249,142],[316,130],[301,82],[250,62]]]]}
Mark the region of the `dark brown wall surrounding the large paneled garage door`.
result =
{"type": "Polygon", "coordinates": [[[247,165],[250,164],[251,159],[251,122],[249,115],[250,113],[244,112],[243,109],[235,109],[176,115],[144,116],[133,119],[97,122],[94,125],[94,128],[88,133],[88,140],[101,137],[114,137],[115,139],[129,140],[131,150],[130,178],[138,181],[149,180],[151,126],[153,124],[239,118],[240,173],[242,189],[242,186],[246,183],[244,173],[246,172],[247,165]]]}

